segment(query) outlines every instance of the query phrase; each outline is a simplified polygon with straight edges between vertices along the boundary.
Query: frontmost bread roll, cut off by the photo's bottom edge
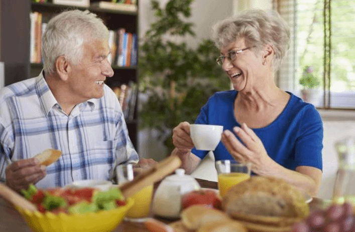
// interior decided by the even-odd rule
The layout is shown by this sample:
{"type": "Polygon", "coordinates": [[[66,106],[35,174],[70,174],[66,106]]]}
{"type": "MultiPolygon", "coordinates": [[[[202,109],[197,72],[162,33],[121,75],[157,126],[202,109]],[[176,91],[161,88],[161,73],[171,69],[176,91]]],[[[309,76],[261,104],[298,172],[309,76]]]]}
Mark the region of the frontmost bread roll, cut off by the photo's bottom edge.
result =
{"type": "Polygon", "coordinates": [[[204,224],[197,232],[248,232],[248,229],[241,222],[230,219],[204,224]]]}

